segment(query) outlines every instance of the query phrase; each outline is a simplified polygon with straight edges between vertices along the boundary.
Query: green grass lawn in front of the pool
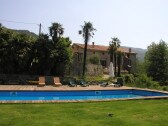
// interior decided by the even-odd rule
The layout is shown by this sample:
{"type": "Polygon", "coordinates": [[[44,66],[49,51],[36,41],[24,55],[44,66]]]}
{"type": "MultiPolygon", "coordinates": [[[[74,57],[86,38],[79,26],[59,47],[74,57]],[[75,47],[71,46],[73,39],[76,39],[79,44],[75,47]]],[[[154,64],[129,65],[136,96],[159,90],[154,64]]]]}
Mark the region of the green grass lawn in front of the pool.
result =
{"type": "Polygon", "coordinates": [[[167,126],[168,100],[0,104],[0,126],[167,126]],[[112,116],[108,116],[111,113],[112,116]]]}

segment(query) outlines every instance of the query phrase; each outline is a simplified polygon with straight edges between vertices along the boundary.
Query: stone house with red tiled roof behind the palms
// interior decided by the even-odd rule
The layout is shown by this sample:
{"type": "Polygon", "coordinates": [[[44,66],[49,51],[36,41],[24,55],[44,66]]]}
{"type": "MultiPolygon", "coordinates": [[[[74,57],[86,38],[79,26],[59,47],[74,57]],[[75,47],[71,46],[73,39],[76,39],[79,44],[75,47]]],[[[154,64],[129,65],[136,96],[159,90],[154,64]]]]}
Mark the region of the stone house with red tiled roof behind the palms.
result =
{"type": "MultiPolygon", "coordinates": [[[[82,64],[83,64],[83,54],[84,54],[84,44],[79,43],[73,43],[72,49],[73,49],[73,68],[75,71],[79,71],[78,74],[82,71],[82,64]]],[[[103,45],[95,45],[94,42],[92,42],[91,45],[87,46],[87,59],[89,59],[92,56],[98,56],[100,59],[100,64],[103,69],[107,69],[110,65],[110,54],[109,54],[109,46],[103,46],[103,45]]],[[[129,70],[130,72],[135,71],[135,65],[136,65],[136,53],[132,52],[131,48],[119,48],[119,51],[123,52],[124,55],[122,55],[122,63],[121,63],[121,70],[129,70]]],[[[113,61],[114,63],[114,61],[113,61]]]]}

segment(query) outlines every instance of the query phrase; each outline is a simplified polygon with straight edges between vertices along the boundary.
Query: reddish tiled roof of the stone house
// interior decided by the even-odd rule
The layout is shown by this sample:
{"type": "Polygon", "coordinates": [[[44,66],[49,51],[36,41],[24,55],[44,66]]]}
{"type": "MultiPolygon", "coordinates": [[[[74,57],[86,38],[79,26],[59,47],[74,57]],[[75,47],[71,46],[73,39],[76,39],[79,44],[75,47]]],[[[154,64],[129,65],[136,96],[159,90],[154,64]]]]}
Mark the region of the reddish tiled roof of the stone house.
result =
{"type": "MultiPolygon", "coordinates": [[[[73,43],[73,44],[78,45],[81,48],[84,48],[84,46],[85,46],[84,44],[79,44],[79,43],[73,43]]],[[[104,46],[104,45],[94,45],[93,46],[93,45],[88,44],[88,46],[87,46],[88,50],[93,50],[93,51],[107,51],[108,48],[109,48],[109,46],[104,46]]],[[[118,50],[121,52],[129,53],[129,48],[120,47],[118,50]]],[[[131,53],[135,53],[135,52],[131,51],[131,53]]]]}

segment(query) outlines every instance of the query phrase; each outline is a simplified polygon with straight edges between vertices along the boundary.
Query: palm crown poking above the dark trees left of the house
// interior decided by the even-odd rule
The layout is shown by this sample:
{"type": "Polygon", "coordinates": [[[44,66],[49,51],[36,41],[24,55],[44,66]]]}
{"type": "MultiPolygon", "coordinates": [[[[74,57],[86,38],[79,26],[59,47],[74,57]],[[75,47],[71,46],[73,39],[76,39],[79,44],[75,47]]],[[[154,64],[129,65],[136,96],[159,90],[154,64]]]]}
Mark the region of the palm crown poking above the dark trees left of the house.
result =
{"type": "Polygon", "coordinates": [[[52,26],[49,27],[50,36],[54,42],[57,41],[58,37],[61,37],[64,33],[64,28],[59,23],[52,23],[52,26]]]}

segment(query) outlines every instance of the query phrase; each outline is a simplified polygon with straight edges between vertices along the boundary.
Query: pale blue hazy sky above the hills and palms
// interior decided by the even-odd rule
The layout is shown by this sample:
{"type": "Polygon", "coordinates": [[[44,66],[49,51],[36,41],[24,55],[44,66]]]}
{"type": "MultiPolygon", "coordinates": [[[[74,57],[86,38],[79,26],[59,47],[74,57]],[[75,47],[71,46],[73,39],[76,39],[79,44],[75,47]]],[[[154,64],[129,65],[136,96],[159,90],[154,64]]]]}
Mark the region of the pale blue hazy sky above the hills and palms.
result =
{"type": "Polygon", "coordinates": [[[89,43],[146,49],[161,39],[168,42],[168,0],[0,0],[0,22],[11,29],[48,33],[51,23],[65,29],[64,37],[84,43],[78,34],[84,21],[96,28],[89,43]]]}

